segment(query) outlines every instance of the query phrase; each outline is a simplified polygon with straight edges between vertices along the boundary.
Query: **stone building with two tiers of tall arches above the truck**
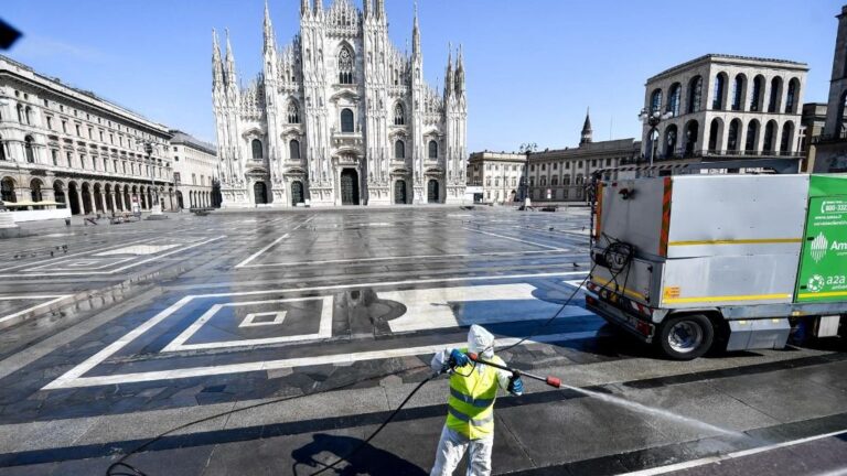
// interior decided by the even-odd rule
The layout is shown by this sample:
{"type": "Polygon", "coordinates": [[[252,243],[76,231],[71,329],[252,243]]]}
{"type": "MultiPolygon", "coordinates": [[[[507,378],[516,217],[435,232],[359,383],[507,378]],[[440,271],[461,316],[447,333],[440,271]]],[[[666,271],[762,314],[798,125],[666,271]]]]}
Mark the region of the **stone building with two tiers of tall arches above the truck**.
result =
{"type": "Polygon", "coordinates": [[[798,158],[804,63],[709,54],[647,79],[644,110],[667,118],[644,123],[644,156],[679,159],[798,158]]]}

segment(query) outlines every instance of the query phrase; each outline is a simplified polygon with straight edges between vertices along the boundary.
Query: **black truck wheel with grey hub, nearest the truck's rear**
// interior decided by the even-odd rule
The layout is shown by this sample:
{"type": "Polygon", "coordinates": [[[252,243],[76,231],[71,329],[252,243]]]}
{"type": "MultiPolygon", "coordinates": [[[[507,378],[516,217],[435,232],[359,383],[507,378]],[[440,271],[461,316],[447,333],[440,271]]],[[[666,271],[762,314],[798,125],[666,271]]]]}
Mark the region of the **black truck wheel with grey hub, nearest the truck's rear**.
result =
{"type": "Polygon", "coordinates": [[[665,321],[658,345],[672,359],[691,360],[706,354],[714,339],[715,328],[709,318],[703,314],[690,314],[665,321]]]}

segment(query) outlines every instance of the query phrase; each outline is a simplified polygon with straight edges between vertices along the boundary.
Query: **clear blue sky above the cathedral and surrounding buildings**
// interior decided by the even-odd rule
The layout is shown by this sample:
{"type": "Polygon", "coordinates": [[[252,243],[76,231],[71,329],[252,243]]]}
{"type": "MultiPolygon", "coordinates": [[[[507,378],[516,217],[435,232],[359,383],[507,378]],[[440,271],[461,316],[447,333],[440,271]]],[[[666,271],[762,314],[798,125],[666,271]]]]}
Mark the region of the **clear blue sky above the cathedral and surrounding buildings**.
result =
{"type": "MultiPolygon", "coordinates": [[[[280,46],[298,0],[269,0],[280,46]]],[[[326,2],[329,4],[329,0],[326,2]]],[[[356,0],[357,4],[362,0],[356,0]]],[[[411,35],[411,0],[387,0],[390,35],[411,35]]],[[[238,71],[261,65],[264,0],[4,0],[25,36],[7,54],[36,71],[214,141],[211,30],[228,26],[238,71]]],[[[443,77],[462,43],[468,148],[540,149],[635,137],[644,82],[706,53],[776,57],[811,67],[804,101],[826,101],[841,2],[835,0],[420,0],[425,74],[443,77]]]]}

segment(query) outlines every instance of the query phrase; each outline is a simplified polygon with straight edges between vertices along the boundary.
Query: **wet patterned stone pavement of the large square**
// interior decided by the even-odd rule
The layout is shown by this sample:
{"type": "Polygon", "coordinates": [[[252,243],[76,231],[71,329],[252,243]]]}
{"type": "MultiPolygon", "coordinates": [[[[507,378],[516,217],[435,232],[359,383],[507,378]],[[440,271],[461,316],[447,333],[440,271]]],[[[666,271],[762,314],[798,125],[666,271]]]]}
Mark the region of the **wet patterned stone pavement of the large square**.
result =
{"type": "MultiPolygon", "coordinates": [[[[303,209],[3,240],[0,475],[105,474],[223,413],[129,462],[151,476],[312,474],[471,324],[502,346],[537,332],[500,354],[518,368],[731,432],[528,382],[497,400],[496,474],[750,474],[769,454],[808,458],[784,468],[810,474],[847,466],[833,455],[840,344],[657,358],[585,310],[589,226],[585,208],[303,209]]],[[[443,378],[425,386],[341,473],[427,474],[446,394],[443,378]]]]}

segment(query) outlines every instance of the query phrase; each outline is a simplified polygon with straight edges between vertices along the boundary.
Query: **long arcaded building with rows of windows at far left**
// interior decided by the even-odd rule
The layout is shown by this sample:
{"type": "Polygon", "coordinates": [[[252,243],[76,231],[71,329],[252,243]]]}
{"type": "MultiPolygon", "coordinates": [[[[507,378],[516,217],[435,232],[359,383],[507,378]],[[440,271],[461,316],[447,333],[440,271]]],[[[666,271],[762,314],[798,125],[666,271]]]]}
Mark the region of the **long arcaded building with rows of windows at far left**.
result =
{"type": "Polygon", "coordinates": [[[0,56],[0,199],[74,215],[175,206],[168,128],[0,56]],[[37,207],[39,205],[33,205],[37,207]]]}

